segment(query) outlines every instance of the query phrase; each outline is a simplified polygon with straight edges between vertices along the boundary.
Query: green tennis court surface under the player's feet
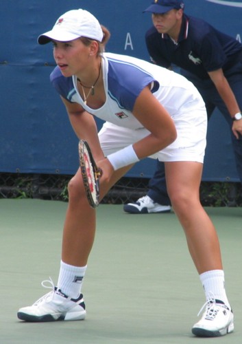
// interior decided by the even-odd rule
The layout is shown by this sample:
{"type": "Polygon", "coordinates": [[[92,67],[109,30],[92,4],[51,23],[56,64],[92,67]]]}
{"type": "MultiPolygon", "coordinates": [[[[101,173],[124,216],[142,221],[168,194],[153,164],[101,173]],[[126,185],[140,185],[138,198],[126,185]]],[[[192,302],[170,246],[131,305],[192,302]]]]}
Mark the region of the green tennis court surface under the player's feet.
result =
{"type": "Polygon", "coordinates": [[[20,307],[56,283],[67,204],[0,200],[0,343],[242,343],[242,208],[206,208],[219,234],[234,333],[195,338],[205,299],[176,215],[129,215],[97,208],[97,236],[83,286],[84,321],[24,323],[20,307]]]}

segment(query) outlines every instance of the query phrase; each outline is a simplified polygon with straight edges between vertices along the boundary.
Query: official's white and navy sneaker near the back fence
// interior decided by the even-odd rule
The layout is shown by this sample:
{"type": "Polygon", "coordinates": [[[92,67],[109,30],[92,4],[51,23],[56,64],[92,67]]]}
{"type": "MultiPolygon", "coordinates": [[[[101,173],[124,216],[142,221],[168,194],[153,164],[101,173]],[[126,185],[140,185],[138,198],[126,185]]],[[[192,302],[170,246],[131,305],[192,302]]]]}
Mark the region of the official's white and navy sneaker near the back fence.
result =
{"type": "Polygon", "coordinates": [[[123,206],[123,210],[130,214],[147,214],[147,213],[169,213],[171,206],[162,206],[154,203],[149,196],[141,197],[134,203],[128,203],[123,206]]]}

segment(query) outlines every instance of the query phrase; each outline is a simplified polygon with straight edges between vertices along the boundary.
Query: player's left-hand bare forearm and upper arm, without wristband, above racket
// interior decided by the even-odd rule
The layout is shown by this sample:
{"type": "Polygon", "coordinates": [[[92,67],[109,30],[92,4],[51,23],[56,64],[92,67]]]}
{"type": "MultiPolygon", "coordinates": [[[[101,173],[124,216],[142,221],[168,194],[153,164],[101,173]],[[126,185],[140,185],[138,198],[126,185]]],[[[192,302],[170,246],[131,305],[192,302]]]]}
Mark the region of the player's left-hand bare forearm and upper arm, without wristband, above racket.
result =
{"type": "Polygon", "coordinates": [[[80,104],[70,103],[64,98],[60,98],[66,107],[71,126],[77,138],[88,142],[95,160],[98,161],[104,158],[104,153],[101,151],[97,135],[97,125],[93,116],[85,111],[80,104]]]}

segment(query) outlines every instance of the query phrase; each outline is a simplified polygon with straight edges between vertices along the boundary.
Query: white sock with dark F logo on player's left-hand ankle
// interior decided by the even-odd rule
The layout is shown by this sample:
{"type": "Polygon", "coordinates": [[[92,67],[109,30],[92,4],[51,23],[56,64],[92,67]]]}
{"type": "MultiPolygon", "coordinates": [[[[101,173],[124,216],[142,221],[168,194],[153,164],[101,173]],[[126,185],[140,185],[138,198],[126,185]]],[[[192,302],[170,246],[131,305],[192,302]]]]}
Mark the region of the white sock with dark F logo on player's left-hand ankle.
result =
{"type": "Polygon", "coordinates": [[[60,261],[60,273],[57,288],[73,299],[77,299],[81,293],[82,280],[86,272],[86,266],[72,266],[60,261]]]}

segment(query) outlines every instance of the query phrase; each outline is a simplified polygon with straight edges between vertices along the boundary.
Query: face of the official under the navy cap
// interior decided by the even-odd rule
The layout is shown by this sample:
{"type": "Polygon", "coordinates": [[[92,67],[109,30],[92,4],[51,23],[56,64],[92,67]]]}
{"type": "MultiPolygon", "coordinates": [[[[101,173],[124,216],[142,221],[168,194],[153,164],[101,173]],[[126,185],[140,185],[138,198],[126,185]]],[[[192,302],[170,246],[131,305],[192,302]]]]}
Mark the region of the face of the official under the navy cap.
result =
{"type": "Polygon", "coordinates": [[[160,34],[173,36],[180,31],[182,20],[182,10],[170,10],[165,13],[152,13],[154,27],[160,34]]]}

